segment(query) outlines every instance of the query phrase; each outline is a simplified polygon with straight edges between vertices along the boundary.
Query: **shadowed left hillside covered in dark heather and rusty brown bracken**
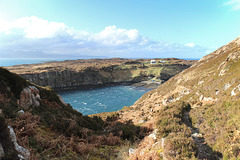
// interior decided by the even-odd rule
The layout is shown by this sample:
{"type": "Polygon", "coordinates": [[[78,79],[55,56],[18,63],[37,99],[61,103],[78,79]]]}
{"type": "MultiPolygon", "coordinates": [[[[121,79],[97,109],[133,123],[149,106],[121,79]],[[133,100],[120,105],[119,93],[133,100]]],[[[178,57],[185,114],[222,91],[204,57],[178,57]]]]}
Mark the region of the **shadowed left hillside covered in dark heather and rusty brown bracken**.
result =
{"type": "Polygon", "coordinates": [[[111,116],[83,116],[52,89],[4,68],[0,84],[0,159],[122,159],[119,146],[149,132],[111,116]]]}

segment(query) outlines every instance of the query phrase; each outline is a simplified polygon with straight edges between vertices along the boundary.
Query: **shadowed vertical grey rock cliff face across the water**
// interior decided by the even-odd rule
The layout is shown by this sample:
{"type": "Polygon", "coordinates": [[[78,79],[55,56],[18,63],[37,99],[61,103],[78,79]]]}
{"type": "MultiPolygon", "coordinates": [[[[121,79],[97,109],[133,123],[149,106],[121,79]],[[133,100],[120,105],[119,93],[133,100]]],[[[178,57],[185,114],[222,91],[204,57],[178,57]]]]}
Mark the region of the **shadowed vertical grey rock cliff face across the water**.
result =
{"type": "Polygon", "coordinates": [[[104,69],[87,68],[84,71],[50,71],[34,74],[20,74],[27,80],[40,86],[50,86],[54,89],[77,88],[84,86],[96,86],[111,83],[136,82],[129,70],[113,69],[111,67],[104,69]]]}

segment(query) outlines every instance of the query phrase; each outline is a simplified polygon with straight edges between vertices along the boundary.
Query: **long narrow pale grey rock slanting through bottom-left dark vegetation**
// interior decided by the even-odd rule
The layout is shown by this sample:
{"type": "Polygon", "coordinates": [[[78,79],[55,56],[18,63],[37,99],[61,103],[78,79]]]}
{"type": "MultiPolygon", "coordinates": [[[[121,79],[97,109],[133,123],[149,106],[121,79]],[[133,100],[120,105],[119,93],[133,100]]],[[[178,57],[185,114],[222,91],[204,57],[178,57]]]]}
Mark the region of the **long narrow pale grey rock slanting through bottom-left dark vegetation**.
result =
{"type": "Polygon", "coordinates": [[[20,159],[29,159],[29,157],[30,157],[30,152],[29,152],[26,148],[20,146],[20,145],[17,143],[16,134],[15,134],[13,128],[12,128],[11,126],[8,126],[8,129],[9,129],[10,139],[11,139],[11,141],[13,142],[16,151],[19,153],[19,154],[18,154],[18,157],[19,157],[20,159]]]}

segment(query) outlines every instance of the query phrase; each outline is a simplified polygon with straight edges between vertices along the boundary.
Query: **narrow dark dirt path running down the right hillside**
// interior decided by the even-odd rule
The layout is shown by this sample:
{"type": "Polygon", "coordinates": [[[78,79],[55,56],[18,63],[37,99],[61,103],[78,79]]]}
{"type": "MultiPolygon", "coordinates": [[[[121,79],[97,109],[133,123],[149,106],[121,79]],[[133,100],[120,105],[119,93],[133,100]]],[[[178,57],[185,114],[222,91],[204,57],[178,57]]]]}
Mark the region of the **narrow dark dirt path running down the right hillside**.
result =
{"type": "Polygon", "coordinates": [[[184,112],[183,114],[183,122],[190,127],[192,131],[192,138],[195,142],[195,144],[198,147],[198,159],[199,160],[218,160],[222,159],[221,153],[216,153],[213,151],[213,149],[207,145],[205,142],[205,138],[202,134],[199,133],[198,128],[194,128],[192,126],[192,122],[189,119],[189,111],[184,112]]]}

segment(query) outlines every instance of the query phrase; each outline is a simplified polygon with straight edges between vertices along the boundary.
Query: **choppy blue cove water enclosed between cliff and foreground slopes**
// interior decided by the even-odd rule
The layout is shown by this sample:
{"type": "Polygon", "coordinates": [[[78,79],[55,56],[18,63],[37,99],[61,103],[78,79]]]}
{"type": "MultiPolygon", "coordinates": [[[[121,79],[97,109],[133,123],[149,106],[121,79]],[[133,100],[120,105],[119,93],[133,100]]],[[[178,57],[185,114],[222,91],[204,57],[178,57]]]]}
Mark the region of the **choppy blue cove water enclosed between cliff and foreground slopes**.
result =
{"type": "Polygon", "coordinates": [[[89,115],[117,111],[124,106],[131,106],[148,91],[150,89],[144,87],[119,85],[57,93],[75,110],[83,115],[89,115]]]}

